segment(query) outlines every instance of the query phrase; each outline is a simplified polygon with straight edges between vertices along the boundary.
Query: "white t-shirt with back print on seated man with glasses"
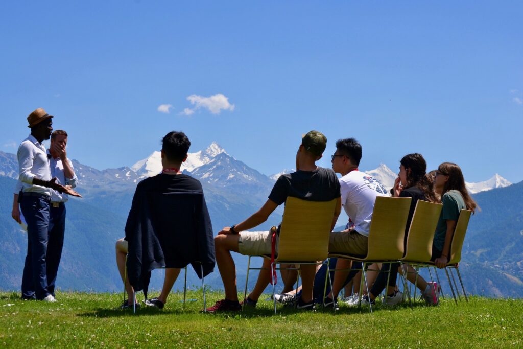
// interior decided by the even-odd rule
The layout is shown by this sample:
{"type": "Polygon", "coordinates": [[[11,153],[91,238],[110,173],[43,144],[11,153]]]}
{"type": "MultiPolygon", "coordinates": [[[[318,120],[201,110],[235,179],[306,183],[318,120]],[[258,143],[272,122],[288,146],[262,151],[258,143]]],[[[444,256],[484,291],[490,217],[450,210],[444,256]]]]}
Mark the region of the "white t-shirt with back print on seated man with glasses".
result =
{"type": "Polygon", "coordinates": [[[360,171],[349,172],[339,179],[339,185],[343,208],[354,229],[368,237],[376,197],[390,196],[389,193],[378,179],[360,171]]]}

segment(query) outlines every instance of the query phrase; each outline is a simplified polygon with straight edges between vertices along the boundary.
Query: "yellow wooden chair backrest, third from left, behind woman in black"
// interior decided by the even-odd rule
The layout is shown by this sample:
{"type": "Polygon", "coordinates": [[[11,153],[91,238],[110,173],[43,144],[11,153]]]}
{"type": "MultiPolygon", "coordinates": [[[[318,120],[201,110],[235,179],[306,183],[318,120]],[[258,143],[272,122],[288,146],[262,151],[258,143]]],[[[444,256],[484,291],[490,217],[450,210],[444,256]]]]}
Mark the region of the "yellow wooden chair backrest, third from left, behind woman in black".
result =
{"type": "Polygon", "coordinates": [[[403,260],[427,262],[432,256],[432,243],[443,205],[418,200],[407,235],[403,260]]]}

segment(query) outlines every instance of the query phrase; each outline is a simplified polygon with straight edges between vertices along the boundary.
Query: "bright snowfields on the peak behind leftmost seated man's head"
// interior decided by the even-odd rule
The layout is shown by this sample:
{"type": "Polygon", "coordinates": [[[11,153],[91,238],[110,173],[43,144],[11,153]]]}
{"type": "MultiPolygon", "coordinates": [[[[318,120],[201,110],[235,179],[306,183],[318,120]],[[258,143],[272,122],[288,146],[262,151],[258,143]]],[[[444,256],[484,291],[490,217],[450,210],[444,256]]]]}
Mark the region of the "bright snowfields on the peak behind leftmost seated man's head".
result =
{"type": "MultiPolygon", "coordinates": [[[[212,142],[204,151],[196,153],[187,153],[187,160],[181,164],[180,170],[191,172],[197,167],[203,166],[211,161],[215,156],[221,153],[226,153],[216,142],[212,142]]],[[[153,152],[149,157],[138,161],[131,166],[131,170],[136,172],[139,176],[151,177],[162,172],[162,153],[159,151],[153,152]]]]}

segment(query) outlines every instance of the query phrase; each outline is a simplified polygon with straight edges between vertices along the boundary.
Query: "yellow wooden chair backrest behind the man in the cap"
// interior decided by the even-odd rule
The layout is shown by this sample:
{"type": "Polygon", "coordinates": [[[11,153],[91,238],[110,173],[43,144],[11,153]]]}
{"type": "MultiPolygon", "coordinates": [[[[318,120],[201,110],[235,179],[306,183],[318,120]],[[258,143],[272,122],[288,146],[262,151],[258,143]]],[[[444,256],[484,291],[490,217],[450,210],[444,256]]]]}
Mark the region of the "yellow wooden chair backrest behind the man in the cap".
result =
{"type": "Polygon", "coordinates": [[[336,199],[308,201],[288,197],[283,210],[277,260],[325,260],[335,206],[336,199]]]}

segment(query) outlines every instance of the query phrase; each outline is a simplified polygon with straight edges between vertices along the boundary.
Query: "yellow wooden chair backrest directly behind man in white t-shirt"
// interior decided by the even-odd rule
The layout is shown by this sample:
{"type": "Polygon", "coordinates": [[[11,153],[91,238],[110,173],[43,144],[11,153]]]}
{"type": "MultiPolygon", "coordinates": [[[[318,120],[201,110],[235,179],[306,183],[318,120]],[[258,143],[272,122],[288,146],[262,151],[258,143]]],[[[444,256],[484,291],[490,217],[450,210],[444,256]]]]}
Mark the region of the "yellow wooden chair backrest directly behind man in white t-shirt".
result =
{"type": "Polygon", "coordinates": [[[412,198],[378,196],[369,229],[368,260],[399,260],[412,198]]]}

